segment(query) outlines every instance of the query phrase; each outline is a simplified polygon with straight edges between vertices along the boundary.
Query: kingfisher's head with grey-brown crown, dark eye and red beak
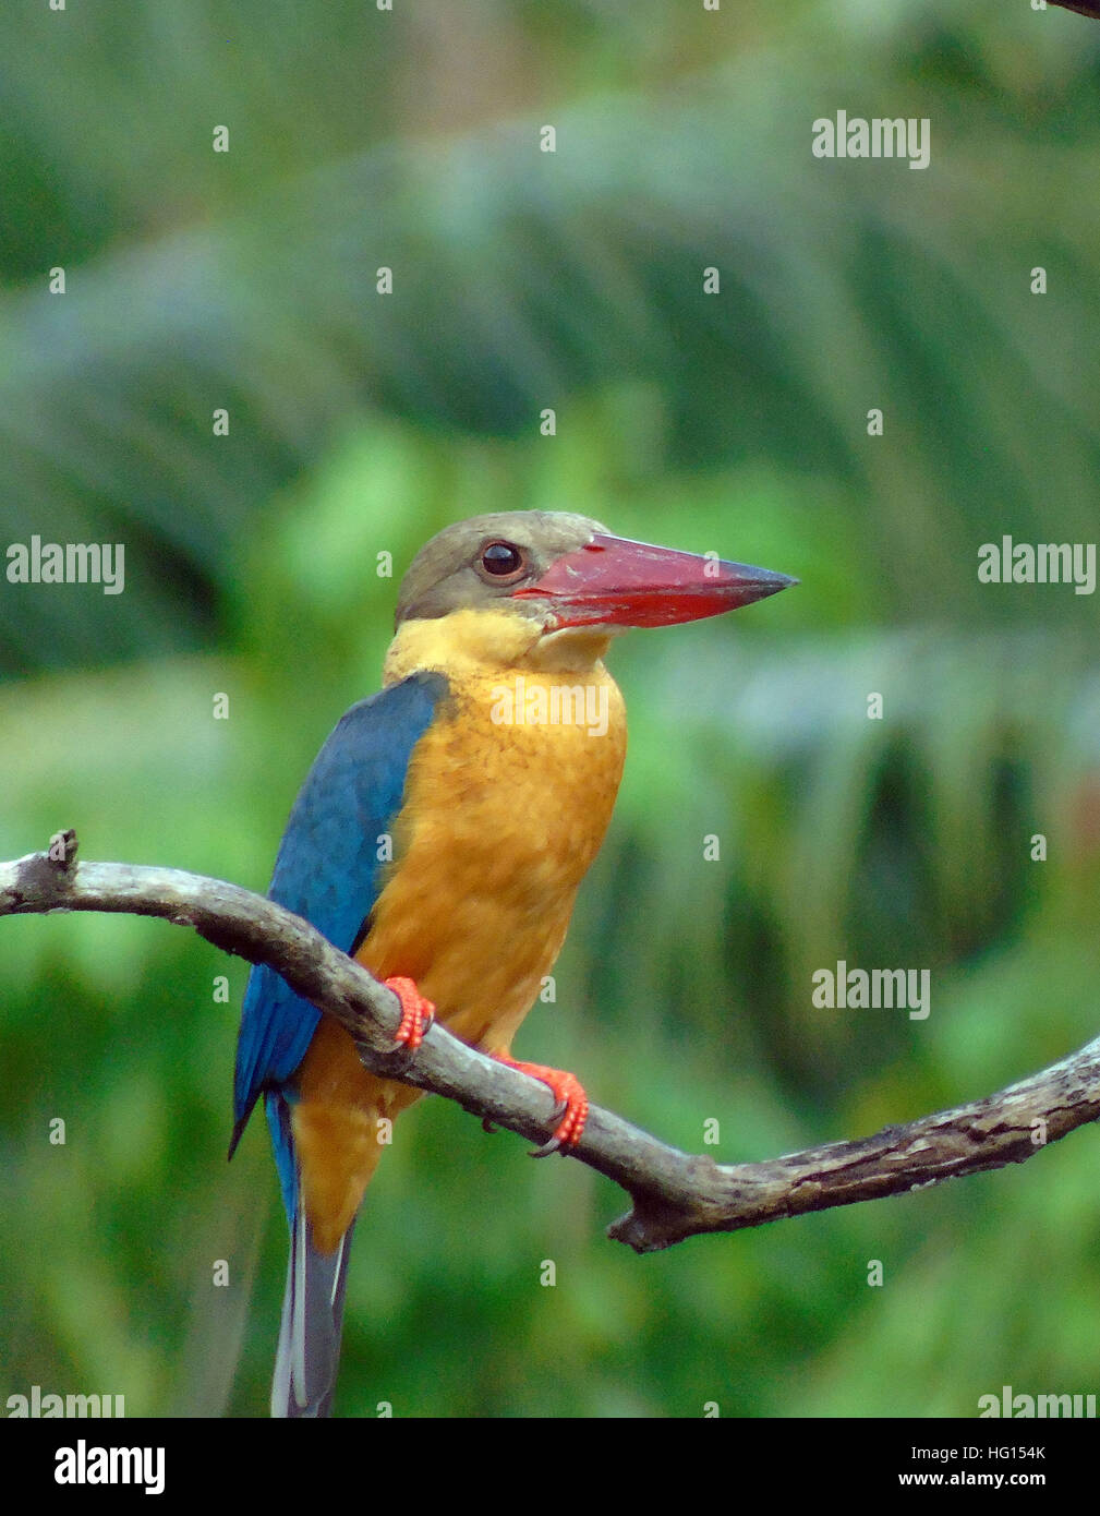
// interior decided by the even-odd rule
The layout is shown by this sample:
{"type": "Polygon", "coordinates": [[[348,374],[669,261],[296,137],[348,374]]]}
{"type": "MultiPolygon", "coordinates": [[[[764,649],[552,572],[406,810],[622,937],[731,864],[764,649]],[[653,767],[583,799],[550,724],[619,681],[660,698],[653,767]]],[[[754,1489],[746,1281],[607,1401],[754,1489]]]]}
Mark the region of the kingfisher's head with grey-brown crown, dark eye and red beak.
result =
{"type": "Polygon", "coordinates": [[[612,537],[586,515],[502,511],[456,522],[421,547],[402,582],[397,628],[498,612],[521,619],[529,643],[606,644],[630,626],[720,615],[791,584],[768,568],[612,537]]]}

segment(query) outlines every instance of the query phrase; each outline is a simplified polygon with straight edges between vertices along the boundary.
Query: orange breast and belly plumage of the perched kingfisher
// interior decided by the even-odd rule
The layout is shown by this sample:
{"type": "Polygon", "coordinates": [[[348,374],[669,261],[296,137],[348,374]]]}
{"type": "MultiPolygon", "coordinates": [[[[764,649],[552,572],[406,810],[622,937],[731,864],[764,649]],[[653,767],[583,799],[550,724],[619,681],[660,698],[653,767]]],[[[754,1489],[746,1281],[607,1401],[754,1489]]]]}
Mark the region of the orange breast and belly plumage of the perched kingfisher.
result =
{"type": "MultiPolygon", "coordinates": [[[[527,675],[529,685],[533,678],[582,679],[527,675]]],[[[602,667],[583,678],[608,690],[600,735],[579,722],[494,722],[500,675],[452,681],[453,703],[414,752],[395,863],[356,954],[379,979],[415,979],[439,1020],[488,1052],[508,1052],[553,967],[615,803],[626,752],[621,696],[602,667]]],[[[420,1093],[368,1073],[347,1032],[321,1020],[292,1107],[306,1214],[321,1251],[338,1246],[359,1208],[385,1122],[420,1093]]]]}

